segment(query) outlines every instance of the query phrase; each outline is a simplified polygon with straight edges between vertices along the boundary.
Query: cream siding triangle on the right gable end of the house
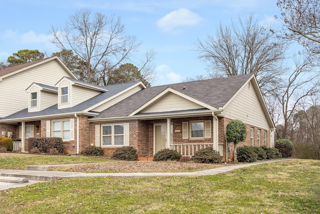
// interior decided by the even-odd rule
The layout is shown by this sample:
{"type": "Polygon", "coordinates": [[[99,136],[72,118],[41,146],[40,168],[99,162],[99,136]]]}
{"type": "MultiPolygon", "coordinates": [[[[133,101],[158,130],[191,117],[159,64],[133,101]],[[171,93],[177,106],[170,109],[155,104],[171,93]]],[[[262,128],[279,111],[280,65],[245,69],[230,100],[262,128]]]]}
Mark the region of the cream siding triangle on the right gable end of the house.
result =
{"type": "Polygon", "coordinates": [[[259,102],[257,93],[252,84],[250,88],[246,85],[223,109],[224,116],[229,119],[239,119],[248,125],[269,130],[270,126],[261,107],[264,104],[259,102]]]}

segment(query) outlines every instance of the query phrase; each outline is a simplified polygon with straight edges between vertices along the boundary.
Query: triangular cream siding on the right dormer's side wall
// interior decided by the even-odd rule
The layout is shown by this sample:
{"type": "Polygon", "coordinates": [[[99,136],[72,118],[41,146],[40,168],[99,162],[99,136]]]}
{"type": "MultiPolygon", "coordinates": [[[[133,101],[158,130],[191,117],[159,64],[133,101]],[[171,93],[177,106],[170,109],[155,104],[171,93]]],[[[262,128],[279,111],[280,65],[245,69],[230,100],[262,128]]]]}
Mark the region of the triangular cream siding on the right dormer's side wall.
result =
{"type": "Polygon", "coordinates": [[[72,85],[72,93],[71,93],[71,107],[82,103],[83,101],[90,99],[98,94],[100,94],[100,91],[96,91],[89,88],[84,88],[76,85],[72,85]]]}

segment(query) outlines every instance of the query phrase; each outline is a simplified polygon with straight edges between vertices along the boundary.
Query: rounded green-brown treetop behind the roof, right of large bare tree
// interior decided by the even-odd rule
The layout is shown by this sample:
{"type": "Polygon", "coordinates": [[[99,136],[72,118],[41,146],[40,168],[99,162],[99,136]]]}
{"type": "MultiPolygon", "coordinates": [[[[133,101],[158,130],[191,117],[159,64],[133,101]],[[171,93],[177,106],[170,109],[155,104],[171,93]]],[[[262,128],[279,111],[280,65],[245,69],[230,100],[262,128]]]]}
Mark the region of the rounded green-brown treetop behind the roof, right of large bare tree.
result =
{"type": "Polygon", "coordinates": [[[133,64],[126,63],[109,72],[107,85],[138,80],[142,81],[145,86],[150,86],[150,84],[143,78],[137,67],[133,64]]]}

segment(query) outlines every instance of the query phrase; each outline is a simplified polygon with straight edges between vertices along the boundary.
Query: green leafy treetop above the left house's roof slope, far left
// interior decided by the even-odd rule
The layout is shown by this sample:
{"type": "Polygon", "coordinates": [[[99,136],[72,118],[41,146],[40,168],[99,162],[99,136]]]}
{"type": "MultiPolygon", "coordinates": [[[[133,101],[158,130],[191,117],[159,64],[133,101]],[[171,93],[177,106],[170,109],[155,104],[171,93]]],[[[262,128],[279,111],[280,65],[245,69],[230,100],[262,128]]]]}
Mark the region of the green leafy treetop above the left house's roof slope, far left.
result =
{"type": "Polygon", "coordinates": [[[23,63],[29,63],[36,60],[41,60],[44,57],[44,54],[38,50],[20,50],[17,53],[13,53],[13,56],[9,56],[7,62],[9,66],[16,66],[23,63]]]}

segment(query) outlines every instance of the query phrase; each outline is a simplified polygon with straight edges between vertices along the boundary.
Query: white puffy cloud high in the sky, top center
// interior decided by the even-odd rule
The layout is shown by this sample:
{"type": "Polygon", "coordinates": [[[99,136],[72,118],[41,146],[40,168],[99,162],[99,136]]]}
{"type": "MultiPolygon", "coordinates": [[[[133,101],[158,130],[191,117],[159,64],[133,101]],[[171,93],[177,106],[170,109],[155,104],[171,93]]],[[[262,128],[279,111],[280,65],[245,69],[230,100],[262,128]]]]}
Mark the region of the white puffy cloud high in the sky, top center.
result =
{"type": "Polygon", "coordinates": [[[172,31],[177,26],[193,26],[198,24],[202,18],[188,9],[181,8],[165,15],[156,22],[158,28],[164,32],[172,31]]]}

